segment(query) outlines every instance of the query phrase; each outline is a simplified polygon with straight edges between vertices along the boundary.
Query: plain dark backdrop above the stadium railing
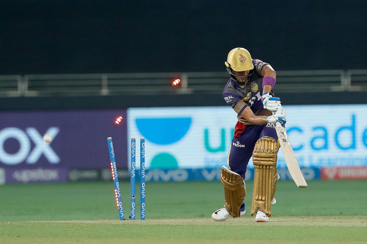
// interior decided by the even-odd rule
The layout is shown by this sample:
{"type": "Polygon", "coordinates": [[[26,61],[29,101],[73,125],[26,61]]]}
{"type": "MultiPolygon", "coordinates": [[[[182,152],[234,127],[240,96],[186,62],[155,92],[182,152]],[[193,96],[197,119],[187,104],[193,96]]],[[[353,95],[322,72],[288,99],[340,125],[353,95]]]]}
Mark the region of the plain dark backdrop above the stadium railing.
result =
{"type": "Polygon", "coordinates": [[[367,67],[366,1],[1,1],[0,74],[367,67]]]}

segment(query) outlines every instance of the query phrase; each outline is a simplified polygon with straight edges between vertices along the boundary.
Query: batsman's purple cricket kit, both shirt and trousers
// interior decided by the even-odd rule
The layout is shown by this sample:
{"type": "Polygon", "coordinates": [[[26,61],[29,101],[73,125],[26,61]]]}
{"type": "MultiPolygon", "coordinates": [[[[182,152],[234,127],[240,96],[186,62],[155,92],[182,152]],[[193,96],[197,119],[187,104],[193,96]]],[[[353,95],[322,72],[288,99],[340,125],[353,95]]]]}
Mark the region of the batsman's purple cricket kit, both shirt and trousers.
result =
{"type": "MultiPolygon", "coordinates": [[[[240,116],[247,106],[251,108],[254,115],[272,115],[271,111],[264,109],[261,102],[262,76],[260,74],[264,65],[268,63],[255,59],[252,60],[252,64],[254,64],[253,74],[246,85],[240,86],[230,78],[223,90],[224,100],[236,111],[238,119],[227,163],[230,169],[240,174],[243,179],[245,179],[247,164],[252,157],[257,140],[269,136],[278,141],[274,124],[254,125],[240,116]]],[[[271,94],[274,94],[273,91],[271,94]]]]}

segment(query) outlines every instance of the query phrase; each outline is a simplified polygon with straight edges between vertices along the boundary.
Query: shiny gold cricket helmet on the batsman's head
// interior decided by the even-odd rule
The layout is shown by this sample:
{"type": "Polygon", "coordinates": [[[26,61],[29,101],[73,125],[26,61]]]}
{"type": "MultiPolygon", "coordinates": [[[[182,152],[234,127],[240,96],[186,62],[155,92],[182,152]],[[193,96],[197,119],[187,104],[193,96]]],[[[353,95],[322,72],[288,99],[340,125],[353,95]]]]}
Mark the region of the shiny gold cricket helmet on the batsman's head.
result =
{"type": "Polygon", "coordinates": [[[254,68],[251,55],[244,48],[233,48],[230,50],[225,65],[234,71],[246,71],[254,68]]]}

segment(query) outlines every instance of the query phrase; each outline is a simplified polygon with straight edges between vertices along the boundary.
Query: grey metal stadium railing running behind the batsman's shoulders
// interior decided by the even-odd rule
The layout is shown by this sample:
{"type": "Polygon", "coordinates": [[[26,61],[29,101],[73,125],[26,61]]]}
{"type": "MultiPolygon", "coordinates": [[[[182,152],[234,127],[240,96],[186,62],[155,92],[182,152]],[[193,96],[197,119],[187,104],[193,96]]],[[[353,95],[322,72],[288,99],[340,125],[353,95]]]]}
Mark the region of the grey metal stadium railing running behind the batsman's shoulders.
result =
{"type": "MultiPolygon", "coordinates": [[[[220,93],[226,72],[49,74],[0,76],[0,96],[220,93]],[[171,82],[181,78],[180,86],[171,82]]],[[[282,92],[367,90],[367,70],[277,71],[282,92]]]]}

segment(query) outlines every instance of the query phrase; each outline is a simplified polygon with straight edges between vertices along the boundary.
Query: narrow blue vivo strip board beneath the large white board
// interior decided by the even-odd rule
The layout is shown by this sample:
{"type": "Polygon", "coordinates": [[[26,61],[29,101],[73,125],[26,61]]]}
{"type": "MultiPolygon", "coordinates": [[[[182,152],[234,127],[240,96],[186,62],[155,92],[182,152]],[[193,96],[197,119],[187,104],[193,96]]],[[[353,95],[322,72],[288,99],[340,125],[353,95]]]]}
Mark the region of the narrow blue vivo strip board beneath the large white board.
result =
{"type": "MultiPolygon", "coordinates": [[[[301,168],[305,180],[320,179],[318,168],[301,168]]],[[[139,170],[137,171],[139,174],[139,170]]],[[[279,180],[292,180],[288,169],[278,170],[279,180]]],[[[146,181],[220,181],[221,168],[216,169],[149,169],[145,174],[146,181]]],[[[247,169],[245,181],[254,180],[254,169],[247,169]]]]}

